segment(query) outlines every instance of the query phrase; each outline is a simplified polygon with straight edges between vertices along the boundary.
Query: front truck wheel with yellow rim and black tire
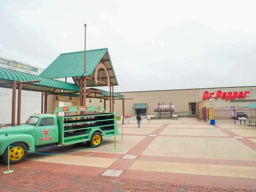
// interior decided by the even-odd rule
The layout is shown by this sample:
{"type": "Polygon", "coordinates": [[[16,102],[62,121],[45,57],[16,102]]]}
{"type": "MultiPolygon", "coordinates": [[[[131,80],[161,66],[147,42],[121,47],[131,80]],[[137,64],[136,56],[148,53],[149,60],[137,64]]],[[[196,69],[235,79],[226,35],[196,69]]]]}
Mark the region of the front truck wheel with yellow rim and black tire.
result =
{"type": "MultiPolygon", "coordinates": [[[[24,161],[27,157],[27,146],[23,142],[16,142],[10,144],[10,164],[16,164],[24,161]],[[26,150],[26,151],[25,151],[26,150]]],[[[5,149],[3,154],[5,163],[8,163],[8,148],[5,149]]]]}

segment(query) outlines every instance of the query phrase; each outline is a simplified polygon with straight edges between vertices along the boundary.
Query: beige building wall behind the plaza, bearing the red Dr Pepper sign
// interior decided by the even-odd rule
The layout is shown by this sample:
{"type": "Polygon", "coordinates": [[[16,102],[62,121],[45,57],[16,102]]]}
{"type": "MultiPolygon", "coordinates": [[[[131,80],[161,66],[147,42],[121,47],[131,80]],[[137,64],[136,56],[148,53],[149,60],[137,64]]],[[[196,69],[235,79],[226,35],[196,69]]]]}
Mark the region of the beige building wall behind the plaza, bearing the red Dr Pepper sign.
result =
{"type": "MultiPolygon", "coordinates": [[[[218,108],[221,106],[233,106],[233,105],[249,105],[252,102],[256,101],[246,101],[248,99],[256,99],[256,86],[253,87],[224,87],[224,88],[206,88],[206,89],[184,89],[184,90],[162,90],[162,91],[141,91],[141,92],[122,92],[121,95],[124,95],[125,99],[125,114],[129,113],[135,114],[135,110],[132,108],[133,103],[147,103],[147,113],[158,115],[157,112],[153,112],[155,105],[158,103],[165,103],[169,105],[175,105],[175,112],[188,112],[189,111],[189,103],[196,102],[195,94],[197,94],[197,101],[203,102],[204,106],[208,106],[209,100],[203,100],[204,91],[208,91],[209,93],[217,93],[218,90],[222,92],[240,92],[240,91],[250,91],[250,94],[246,96],[244,99],[235,99],[236,101],[223,100],[222,98],[218,98],[215,100],[212,97],[212,103],[214,108],[218,108]],[[252,90],[252,91],[251,91],[252,90]],[[252,95],[251,95],[252,93],[252,95]],[[128,99],[132,98],[132,99],[128,99]]],[[[54,98],[55,99],[55,98],[54,98]]],[[[49,99],[50,100],[50,99],[49,99]]],[[[103,106],[104,102],[99,102],[100,99],[91,98],[91,103],[89,102],[90,98],[87,98],[87,106],[103,106]]],[[[68,102],[68,101],[67,101],[68,102]]],[[[48,102],[48,105],[53,105],[54,102],[48,102]]],[[[203,105],[202,105],[203,106],[203,105]]],[[[49,106],[48,106],[49,107],[49,106]]],[[[48,108],[50,109],[50,108],[48,108]]],[[[106,111],[109,112],[109,101],[106,101],[106,111]]],[[[114,112],[117,117],[120,117],[123,113],[122,108],[122,99],[115,100],[114,103],[114,112]]]]}

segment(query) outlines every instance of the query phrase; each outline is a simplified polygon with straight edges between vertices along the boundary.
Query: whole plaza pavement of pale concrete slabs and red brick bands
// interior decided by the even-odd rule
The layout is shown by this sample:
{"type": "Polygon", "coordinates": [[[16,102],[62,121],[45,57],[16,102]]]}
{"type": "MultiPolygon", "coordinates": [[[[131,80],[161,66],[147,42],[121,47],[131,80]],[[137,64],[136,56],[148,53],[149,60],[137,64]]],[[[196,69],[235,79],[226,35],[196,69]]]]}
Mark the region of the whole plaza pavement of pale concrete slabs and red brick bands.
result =
{"type": "MultiPolygon", "coordinates": [[[[63,155],[30,153],[28,161],[12,165],[15,172],[2,174],[0,182],[5,182],[7,191],[16,191],[18,189],[11,188],[11,180],[19,182],[22,180],[19,174],[27,172],[29,180],[33,180],[32,176],[30,178],[32,173],[38,177],[42,174],[42,178],[87,176],[113,184],[112,188],[104,184],[101,188],[87,188],[91,191],[256,190],[255,127],[212,126],[197,123],[194,118],[180,118],[152,120],[150,123],[143,120],[140,128],[135,122],[120,124],[118,128],[120,133],[123,128],[123,140],[121,135],[116,136],[116,152],[113,152],[112,137],[104,138],[105,142],[97,148],[88,149],[85,144],[76,144],[42,151],[63,155]],[[126,184],[120,185],[120,182],[126,184]],[[163,187],[166,185],[169,187],[163,187]]],[[[0,170],[5,169],[1,163],[0,170]]],[[[28,182],[31,184],[32,181],[28,182]]],[[[53,191],[55,185],[46,182],[45,190],[53,191]]],[[[64,191],[69,189],[65,182],[62,187],[64,191]]],[[[41,191],[44,188],[40,185],[34,189],[41,191]]]]}

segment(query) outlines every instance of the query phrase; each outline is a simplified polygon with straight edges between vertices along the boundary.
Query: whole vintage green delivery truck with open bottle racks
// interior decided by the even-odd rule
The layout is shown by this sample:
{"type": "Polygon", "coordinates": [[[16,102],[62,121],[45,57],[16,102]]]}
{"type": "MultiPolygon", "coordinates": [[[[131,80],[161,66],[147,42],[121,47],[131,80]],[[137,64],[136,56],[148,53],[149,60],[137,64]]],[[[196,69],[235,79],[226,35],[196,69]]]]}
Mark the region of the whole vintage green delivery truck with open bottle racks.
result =
{"type": "Polygon", "coordinates": [[[12,146],[10,164],[15,164],[27,157],[27,150],[40,151],[82,142],[98,147],[103,136],[118,134],[115,114],[104,112],[102,106],[70,106],[59,107],[54,114],[33,114],[23,125],[0,129],[0,155],[7,163],[7,146],[12,146]],[[69,114],[57,115],[59,113],[69,114]]]}

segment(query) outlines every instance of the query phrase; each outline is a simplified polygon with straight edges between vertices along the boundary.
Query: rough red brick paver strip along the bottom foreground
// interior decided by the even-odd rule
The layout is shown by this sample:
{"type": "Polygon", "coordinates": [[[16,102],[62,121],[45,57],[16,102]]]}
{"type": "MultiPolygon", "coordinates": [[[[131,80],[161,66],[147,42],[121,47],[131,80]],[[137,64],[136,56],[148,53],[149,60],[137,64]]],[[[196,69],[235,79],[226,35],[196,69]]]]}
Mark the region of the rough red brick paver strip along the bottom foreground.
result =
{"type": "MultiPolygon", "coordinates": [[[[2,172],[4,167],[0,167],[2,172]]],[[[111,192],[252,192],[252,190],[215,188],[203,185],[170,184],[106,176],[57,173],[30,168],[16,168],[14,173],[0,176],[1,192],[10,191],[111,191],[111,192]]]]}

